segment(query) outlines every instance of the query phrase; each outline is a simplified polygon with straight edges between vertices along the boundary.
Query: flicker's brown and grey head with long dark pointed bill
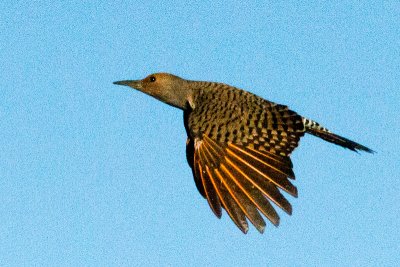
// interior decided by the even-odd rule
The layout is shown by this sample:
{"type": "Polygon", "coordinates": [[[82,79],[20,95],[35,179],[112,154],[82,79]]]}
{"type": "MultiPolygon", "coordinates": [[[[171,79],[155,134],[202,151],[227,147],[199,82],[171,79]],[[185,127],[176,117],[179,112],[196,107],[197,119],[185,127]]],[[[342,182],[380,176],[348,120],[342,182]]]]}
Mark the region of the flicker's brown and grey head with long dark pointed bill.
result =
{"type": "Polygon", "coordinates": [[[188,81],[169,73],[154,73],[142,80],[124,80],[114,84],[132,87],[181,109],[185,108],[190,94],[188,81]]]}

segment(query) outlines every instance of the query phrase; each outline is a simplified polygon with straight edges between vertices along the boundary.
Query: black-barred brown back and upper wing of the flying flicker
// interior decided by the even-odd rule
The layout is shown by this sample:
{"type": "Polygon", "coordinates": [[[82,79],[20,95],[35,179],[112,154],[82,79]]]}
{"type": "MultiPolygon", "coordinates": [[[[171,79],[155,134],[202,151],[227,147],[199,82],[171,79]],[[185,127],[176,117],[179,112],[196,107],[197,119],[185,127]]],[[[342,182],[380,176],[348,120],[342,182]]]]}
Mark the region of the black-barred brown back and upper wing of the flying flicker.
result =
{"type": "Polygon", "coordinates": [[[221,143],[287,156],[304,135],[302,117],[287,106],[226,84],[200,83],[187,121],[193,138],[205,134],[221,143]]]}

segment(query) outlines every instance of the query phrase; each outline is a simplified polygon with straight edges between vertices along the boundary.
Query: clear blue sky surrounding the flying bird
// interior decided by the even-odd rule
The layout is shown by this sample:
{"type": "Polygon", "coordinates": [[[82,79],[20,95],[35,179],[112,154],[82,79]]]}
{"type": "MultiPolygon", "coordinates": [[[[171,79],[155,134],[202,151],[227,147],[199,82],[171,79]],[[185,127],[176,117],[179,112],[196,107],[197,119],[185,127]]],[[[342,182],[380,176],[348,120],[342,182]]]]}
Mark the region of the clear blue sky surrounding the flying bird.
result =
{"type": "Polygon", "coordinates": [[[183,2],[2,2],[0,265],[399,265],[399,2],[183,2]],[[293,215],[243,235],[197,192],[182,112],[112,84],[161,71],[378,153],[306,136],[293,215]]]}

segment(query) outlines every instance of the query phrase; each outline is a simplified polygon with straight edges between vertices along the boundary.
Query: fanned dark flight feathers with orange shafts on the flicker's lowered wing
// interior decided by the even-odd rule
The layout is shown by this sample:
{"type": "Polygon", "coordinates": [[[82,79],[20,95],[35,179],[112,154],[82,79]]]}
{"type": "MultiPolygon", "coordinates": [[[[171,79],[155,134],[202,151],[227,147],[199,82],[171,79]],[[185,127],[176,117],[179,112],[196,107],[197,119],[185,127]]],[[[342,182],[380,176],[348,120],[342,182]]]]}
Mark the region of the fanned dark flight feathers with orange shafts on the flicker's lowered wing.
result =
{"type": "Polygon", "coordinates": [[[248,231],[246,218],[263,233],[265,221],[260,212],[279,225],[279,215],[271,202],[292,213],[292,206],[278,189],[297,197],[297,189],[288,179],[294,178],[288,157],[221,144],[206,135],[189,145],[193,145],[197,187],[218,218],[223,207],[244,233],[248,231]]]}

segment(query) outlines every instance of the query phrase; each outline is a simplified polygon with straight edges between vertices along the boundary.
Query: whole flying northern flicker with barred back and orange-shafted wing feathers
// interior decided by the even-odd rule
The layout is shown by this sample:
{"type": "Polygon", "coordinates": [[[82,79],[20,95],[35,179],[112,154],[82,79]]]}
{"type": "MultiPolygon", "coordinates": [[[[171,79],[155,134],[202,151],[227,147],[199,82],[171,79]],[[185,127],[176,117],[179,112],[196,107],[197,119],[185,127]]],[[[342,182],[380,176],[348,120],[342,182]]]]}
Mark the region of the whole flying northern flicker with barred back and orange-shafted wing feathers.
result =
{"type": "Polygon", "coordinates": [[[287,106],[217,82],[191,81],[168,73],[114,82],[142,91],[183,110],[186,155],[200,194],[220,218],[224,208],[247,233],[249,220],[264,232],[262,213],[275,226],[275,204],[289,215],[282,191],[297,197],[290,160],[309,133],[353,151],[373,151],[336,135],[287,106]]]}

